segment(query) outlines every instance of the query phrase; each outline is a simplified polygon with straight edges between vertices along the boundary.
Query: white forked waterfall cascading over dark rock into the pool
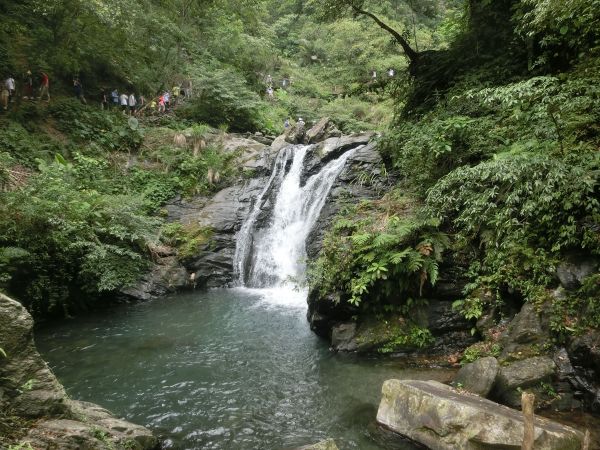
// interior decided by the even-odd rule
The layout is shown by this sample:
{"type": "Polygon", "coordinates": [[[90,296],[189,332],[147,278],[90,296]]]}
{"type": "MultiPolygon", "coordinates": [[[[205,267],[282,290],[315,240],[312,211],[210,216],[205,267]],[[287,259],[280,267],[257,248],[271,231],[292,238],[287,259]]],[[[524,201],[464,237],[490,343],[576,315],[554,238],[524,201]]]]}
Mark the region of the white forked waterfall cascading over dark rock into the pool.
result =
{"type": "Polygon", "coordinates": [[[304,275],[306,238],[353,153],[348,151],[330,161],[301,186],[304,159],[310,148],[290,146],[277,155],[271,176],[237,236],[234,267],[239,285],[280,287],[304,275]],[[257,219],[270,199],[270,219],[259,228],[257,219]]]}

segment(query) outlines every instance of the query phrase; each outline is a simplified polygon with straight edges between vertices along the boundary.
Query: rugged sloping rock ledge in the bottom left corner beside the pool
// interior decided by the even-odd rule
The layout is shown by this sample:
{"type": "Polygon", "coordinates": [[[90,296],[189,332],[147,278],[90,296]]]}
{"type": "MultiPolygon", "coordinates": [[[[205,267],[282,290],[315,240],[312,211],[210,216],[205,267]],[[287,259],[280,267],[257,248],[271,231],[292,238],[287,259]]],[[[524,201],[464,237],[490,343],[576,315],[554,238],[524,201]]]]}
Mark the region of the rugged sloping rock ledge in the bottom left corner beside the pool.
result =
{"type": "MultiPolygon", "coordinates": [[[[92,403],[71,400],[35,348],[33,319],[19,303],[0,294],[0,425],[3,418],[30,424],[19,443],[35,449],[137,449],[158,447],[142,426],[92,403]]],[[[15,430],[10,430],[11,435],[15,430]]],[[[0,447],[5,441],[0,429],[0,447]]],[[[18,433],[17,433],[18,434],[18,433]]]]}

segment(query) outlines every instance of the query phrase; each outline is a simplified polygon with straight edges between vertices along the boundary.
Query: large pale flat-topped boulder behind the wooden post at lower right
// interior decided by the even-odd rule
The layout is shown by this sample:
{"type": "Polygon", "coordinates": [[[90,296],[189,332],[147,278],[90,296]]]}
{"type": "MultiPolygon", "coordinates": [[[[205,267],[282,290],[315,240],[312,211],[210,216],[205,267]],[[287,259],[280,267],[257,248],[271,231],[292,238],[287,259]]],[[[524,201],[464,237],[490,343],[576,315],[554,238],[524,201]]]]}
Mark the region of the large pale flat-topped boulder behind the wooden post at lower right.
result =
{"type": "MultiPolygon", "coordinates": [[[[377,422],[432,450],[520,449],[523,416],[436,381],[388,380],[377,422]]],[[[583,435],[535,417],[536,450],[579,450],[583,435]]]]}

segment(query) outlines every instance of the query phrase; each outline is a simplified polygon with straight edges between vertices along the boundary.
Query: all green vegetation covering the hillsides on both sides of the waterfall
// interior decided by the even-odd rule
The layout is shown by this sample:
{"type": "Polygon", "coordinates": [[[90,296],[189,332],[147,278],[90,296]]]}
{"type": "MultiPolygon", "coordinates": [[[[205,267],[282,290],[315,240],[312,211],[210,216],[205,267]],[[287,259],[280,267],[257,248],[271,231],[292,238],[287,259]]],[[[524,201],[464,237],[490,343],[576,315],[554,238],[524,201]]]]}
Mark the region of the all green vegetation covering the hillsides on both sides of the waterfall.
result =
{"type": "Polygon", "coordinates": [[[214,128],[276,133],[285,117],[328,115],[345,132],[384,130],[400,180],[343,211],[314,289],[361,314],[408,315],[453,258],[470,319],[490,302],[551,301],[557,336],[598,326],[597,276],[552,290],[567,256],[600,253],[599,11],[596,0],[5,2],[2,72],[43,70],[53,94],[79,76],[89,98],[184,79],[195,95],[141,126],[54,96],[12,107],[0,120],[0,286],[39,314],[69,314],[75,298],[134,282],[161,243],[193,255],[210,230],[165,226],[161,208],[240,175],[218,138],[206,145],[214,128]]]}

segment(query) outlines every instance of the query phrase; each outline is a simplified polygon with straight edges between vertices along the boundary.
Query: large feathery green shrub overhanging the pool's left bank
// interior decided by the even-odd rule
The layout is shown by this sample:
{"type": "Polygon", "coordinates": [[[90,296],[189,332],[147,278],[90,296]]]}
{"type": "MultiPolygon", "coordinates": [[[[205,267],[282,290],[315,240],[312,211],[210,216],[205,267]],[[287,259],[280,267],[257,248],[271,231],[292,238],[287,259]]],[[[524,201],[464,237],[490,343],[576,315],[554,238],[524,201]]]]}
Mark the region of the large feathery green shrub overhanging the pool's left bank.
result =
{"type": "Polygon", "coordinates": [[[135,282],[157,227],[139,197],[80,189],[72,165],[41,164],[25,187],[2,194],[0,248],[12,273],[2,284],[35,314],[68,314],[135,282]]]}

